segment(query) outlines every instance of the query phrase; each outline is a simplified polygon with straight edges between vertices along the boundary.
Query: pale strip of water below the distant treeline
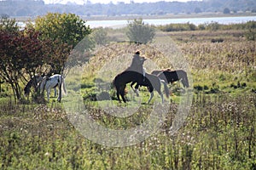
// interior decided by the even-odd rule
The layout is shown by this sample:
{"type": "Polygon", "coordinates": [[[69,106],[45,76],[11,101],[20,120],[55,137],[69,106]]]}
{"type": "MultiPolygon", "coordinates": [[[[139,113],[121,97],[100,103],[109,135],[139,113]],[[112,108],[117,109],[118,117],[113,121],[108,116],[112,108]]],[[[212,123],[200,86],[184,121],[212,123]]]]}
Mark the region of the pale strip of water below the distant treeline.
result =
{"type": "MultiPolygon", "coordinates": [[[[239,17],[212,17],[212,18],[183,18],[183,19],[145,19],[143,20],[146,24],[160,26],[166,24],[177,24],[177,23],[191,23],[196,26],[205,23],[218,22],[219,24],[238,24],[245,23],[249,20],[256,20],[256,16],[239,16],[239,17]]],[[[128,20],[88,20],[86,25],[90,25],[90,28],[96,27],[113,27],[119,28],[124,27],[128,23],[128,20]]],[[[23,22],[18,22],[18,25],[24,27],[23,22]]]]}

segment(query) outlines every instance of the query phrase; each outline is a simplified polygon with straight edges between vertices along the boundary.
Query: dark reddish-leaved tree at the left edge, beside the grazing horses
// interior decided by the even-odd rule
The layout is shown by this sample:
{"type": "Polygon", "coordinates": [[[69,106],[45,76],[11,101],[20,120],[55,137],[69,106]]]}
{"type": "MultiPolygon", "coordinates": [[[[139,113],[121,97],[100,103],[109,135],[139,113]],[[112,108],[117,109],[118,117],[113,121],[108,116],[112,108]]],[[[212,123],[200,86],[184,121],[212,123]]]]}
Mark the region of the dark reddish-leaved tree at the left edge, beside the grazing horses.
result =
{"type": "Polygon", "coordinates": [[[8,26],[0,25],[5,28],[0,30],[0,79],[10,85],[15,99],[22,99],[21,82],[61,65],[67,60],[69,48],[65,44],[55,47],[52,40],[40,40],[39,32],[33,29],[15,31],[12,22],[5,23],[8,26]]]}

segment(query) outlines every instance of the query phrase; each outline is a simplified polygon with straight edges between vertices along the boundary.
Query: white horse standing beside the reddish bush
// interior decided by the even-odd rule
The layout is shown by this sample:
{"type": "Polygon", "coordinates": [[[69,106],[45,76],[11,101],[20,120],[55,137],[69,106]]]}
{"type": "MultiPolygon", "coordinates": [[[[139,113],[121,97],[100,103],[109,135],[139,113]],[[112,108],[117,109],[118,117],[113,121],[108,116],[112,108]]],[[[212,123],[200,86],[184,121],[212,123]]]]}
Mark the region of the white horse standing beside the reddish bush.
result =
{"type": "Polygon", "coordinates": [[[61,101],[61,86],[63,89],[64,94],[66,94],[66,86],[65,86],[65,81],[64,78],[61,77],[59,74],[55,74],[51,77],[44,77],[42,82],[40,82],[40,92],[44,91],[44,89],[47,92],[47,99],[49,101],[49,92],[51,88],[55,89],[55,94],[56,94],[56,87],[59,88],[59,94],[58,94],[58,101],[61,101]]]}

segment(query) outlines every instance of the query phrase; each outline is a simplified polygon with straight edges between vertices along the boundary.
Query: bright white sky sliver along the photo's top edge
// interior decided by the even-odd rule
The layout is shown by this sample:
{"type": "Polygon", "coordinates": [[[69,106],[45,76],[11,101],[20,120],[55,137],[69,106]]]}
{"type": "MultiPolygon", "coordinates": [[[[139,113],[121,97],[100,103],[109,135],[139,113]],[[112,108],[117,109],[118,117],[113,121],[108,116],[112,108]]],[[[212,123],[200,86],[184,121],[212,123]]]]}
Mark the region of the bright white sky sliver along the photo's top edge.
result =
{"type": "MultiPolygon", "coordinates": [[[[83,5],[86,3],[102,3],[102,4],[108,4],[108,3],[157,3],[162,2],[163,0],[43,0],[45,4],[68,4],[68,3],[76,3],[79,5],[83,5]]],[[[202,0],[164,0],[164,2],[180,2],[180,3],[187,3],[189,1],[202,1],[202,0]]]]}

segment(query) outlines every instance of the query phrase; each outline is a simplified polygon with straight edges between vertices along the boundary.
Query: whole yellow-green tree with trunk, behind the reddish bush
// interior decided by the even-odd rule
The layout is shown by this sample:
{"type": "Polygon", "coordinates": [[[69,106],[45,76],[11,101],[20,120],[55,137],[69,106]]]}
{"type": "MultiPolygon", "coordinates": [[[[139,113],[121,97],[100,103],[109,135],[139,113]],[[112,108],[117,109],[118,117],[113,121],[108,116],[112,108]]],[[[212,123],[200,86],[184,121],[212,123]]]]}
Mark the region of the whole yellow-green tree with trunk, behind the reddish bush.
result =
{"type": "MultiPolygon", "coordinates": [[[[67,57],[79,42],[86,42],[83,43],[84,46],[82,48],[79,47],[80,50],[84,50],[83,52],[88,52],[94,48],[94,42],[89,37],[92,32],[90,26],[85,26],[85,21],[75,14],[46,14],[35,20],[34,28],[36,31],[41,32],[40,38],[42,40],[50,39],[54,42],[50,51],[57,53],[49,54],[56,61],[56,63],[51,65],[53,68],[52,73],[63,74],[67,57]],[[69,48],[69,50],[63,52],[62,47],[65,49],[69,48]]],[[[83,52],[80,51],[80,53],[83,52]]],[[[81,59],[76,58],[73,60],[73,64],[78,64],[80,61],[81,59]]]]}

